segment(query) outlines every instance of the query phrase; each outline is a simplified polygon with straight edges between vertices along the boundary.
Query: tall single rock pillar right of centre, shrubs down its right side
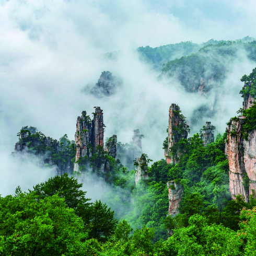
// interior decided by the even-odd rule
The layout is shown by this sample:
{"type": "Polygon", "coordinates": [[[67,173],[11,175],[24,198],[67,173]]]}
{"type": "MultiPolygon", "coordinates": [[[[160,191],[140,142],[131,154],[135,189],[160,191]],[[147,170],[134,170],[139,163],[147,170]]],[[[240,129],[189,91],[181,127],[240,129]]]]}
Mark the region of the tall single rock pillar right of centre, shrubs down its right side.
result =
{"type": "Polygon", "coordinates": [[[167,163],[177,164],[179,162],[180,152],[174,151],[173,146],[177,144],[181,138],[188,137],[188,125],[185,123],[183,115],[180,114],[180,107],[177,104],[171,104],[169,109],[169,124],[168,124],[168,148],[167,163]]]}

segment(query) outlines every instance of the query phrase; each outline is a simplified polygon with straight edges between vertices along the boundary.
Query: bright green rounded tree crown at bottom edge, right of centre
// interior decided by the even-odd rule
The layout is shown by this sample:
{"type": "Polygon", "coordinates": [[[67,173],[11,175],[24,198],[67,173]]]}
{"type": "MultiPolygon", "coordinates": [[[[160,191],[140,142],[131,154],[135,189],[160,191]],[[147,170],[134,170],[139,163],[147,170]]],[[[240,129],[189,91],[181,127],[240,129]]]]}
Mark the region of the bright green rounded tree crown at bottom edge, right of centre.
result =
{"type": "Polygon", "coordinates": [[[241,242],[235,231],[222,225],[208,225],[206,219],[195,214],[189,226],[174,231],[166,242],[167,255],[241,255],[241,242]]]}

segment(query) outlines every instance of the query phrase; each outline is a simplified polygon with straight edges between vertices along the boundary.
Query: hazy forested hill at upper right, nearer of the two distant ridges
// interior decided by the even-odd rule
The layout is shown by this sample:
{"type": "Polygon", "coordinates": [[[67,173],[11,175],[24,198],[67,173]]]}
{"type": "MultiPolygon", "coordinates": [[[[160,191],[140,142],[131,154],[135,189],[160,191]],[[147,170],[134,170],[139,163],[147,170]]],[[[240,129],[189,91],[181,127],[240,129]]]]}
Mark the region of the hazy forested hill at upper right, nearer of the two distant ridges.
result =
{"type": "Polygon", "coordinates": [[[256,62],[256,41],[221,42],[209,44],[196,53],[182,56],[162,66],[163,76],[178,78],[181,85],[188,91],[197,91],[206,82],[206,91],[213,82],[219,83],[229,71],[230,64],[240,61],[241,54],[256,62]],[[211,80],[211,83],[208,83],[211,80]]]}

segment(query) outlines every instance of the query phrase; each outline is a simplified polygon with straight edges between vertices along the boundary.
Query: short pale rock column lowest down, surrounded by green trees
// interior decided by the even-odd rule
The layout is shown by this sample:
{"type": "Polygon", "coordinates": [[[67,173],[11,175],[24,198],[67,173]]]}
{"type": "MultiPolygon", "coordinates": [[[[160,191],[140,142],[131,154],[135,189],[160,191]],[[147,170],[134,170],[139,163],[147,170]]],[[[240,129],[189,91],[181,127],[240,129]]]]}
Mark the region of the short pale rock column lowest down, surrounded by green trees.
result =
{"type": "Polygon", "coordinates": [[[169,211],[168,214],[176,216],[179,214],[179,206],[181,197],[184,192],[184,188],[181,183],[175,183],[174,180],[167,182],[167,187],[169,190],[169,211]]]}

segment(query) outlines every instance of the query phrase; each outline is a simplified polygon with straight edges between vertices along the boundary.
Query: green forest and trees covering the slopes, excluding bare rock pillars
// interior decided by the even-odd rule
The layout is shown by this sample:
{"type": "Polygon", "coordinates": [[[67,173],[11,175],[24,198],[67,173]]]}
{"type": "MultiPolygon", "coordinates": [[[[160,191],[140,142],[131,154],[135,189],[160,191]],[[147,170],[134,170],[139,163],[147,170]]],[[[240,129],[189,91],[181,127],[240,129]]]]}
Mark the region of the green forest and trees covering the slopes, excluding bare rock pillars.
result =
{"type": "MultiPolygon", "coordinates": [[[[217,81],[225,76],[225,68],[221,64],[211,66],[212,73],[207,73],[204,67],[207,54],[232,59],[238,47],[245,48],[252,60],[256,60],[255,41],[212,42],[200,50],[198,45],[187,44],[191,48],[188,54],[196,53],[168,62],[162,67],[163,74],[177,72],[182,66],[189,68],[188,72],[195,77],[214,76],[217,81]]],[[[149,50],[139,49],[147,56],[149,50]]],[[[165,60],[160,55],[159,58],[159,62],[165,60]]],[[[244,98],[255,96],[255,70],[241,78],[247,85],[240,92],[244,98]]],[[[188,74],[179,73],[185,85],[183,74],[186,77],[188,74]]],[[[106,95],[112,94],[113,81],[121,83],[110,72],[102,72],[92,93],[109,88],[111,92],[106,95]],[[108,77],[110,86],[104,77],[108,77]]],[[[246,110],[238,110],[239,116],[245,117],[242,130],[245,139],[256,129],[255,111],[253,104],[246,110]]],[[[178,114],[185,122],[181,111],[178,114]]],[[[231,120],[236,119],[239,118],[231,120]]],[[[211,128],[214,131],[213,125],[211,128]]],[[[178,126],[176,132],[182,129],[178,126]]],[[[186,124],[185,129],[188,132],[189,125],[186,124]]],[[[35,127],[22,127],[17,134],[16,150],[26,148],[28,156],[36,155],[41,159],[43,168],[59,166],[59,175],[34,184],[29,191],[17,187],[13,195],[0,197],[1,255],[254,255],[255,191],[250,192],[249,200],[240,194],[231,200],[229,162],[225,155],[227,132],[217,134],[214,142],[204,144],[204,131],[205,126],[193,136],[183,137],[173,144],[169,157],[178,160],[171,164],[167,159],[153,162],[142,154],[139,159],[144,160],[147,178],[135,182],[139,164],[138,159],[131,157],[132,144],[117,143],[116,158],[100,145],[89,148],[90,157],[79,158],[76,161],[79,171],[73,172],[74,141],[69,141],[67,135],[56,141],[35,127]],[[102,172],[100,167],[104,163],[106,168],[102,172]],[[91,202],[86,197],[83,184],[79,182],[84,175],[87,179],[97,177],[110,188],[102,200],[91,202]],[[168,195],[177,186],[183,191],[178,214],[170,215],[168,195]]],[[[111,142],[108,138],[106,144],[111,142]]],[[[168,137],[163,142],[166,152],[167,147],[168,137]]],[[[244,179],[243,182],[249,181],[244,179]]],[[[248,184],[244,185],[249,188],[248,184]]]]}

